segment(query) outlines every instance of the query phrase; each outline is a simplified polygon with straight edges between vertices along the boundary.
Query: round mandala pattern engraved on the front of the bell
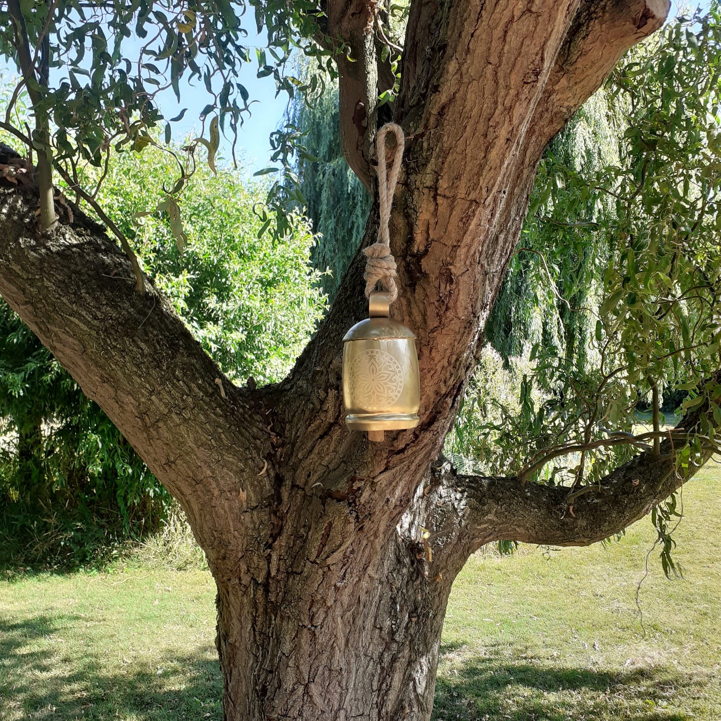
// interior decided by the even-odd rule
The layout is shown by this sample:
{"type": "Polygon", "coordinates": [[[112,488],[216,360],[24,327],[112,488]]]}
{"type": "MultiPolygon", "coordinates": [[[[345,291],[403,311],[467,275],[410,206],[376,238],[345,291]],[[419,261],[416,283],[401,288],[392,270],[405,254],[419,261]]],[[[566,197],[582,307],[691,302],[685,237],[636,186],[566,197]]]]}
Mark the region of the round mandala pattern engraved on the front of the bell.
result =
{"type": "Polygon", "coordinates": [[[391,407],[403,392],[403,369],[390,353],[370,348],[359,353],[350,366],[353,399],[371,411],[391,407]]]}

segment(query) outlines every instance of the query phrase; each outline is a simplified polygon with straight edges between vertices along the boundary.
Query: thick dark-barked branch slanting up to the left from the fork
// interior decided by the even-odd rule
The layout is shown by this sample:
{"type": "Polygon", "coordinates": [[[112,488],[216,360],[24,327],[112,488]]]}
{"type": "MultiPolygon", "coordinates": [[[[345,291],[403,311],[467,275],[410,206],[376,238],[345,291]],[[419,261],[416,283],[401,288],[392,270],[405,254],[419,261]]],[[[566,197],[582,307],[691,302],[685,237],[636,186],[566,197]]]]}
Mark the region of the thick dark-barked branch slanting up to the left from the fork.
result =
{"type": "Polygon", "coordinates": [[[99,226],[78,212],[74,226],[43,234],[35,202],[0,191],[0,293],[177,497],[203,548],[219,552],[211,564],[237,559],[244,511],[269,495],[272,415],[154,288],[133,291],[130,263],[99,226]]]}

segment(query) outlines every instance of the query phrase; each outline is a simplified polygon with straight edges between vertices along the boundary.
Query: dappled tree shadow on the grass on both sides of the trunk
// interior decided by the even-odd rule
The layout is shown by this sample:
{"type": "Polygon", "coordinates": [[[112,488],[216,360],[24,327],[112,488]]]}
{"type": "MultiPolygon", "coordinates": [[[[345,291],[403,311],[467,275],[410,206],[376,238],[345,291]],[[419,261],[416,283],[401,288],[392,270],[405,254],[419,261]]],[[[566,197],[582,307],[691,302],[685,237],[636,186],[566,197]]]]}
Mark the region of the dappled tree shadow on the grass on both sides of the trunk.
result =
{"type": "MultiPolygon", "coordinates": [[[[84,623],[81,616],[38,615],[0,619],[0,719],[220,721],[218,662],[186,655],[155,670],[112,663],[91,653],[68,658],[61,636],[84,623]],[[161,673],[157,673],[161,671],[161,673]]],[[[78,629],[74,632],[81,636],[78,629]]],[[[658,706],[668,689],[688,685],[665,668],[620,673],[514,658],[494,645],[483,655],[443,645],[443,670],[435,690],[436,721],[685,721],[658,706]],[[517,660],[516,660],[517,659],[517,660]],[[450,668],[449,668],[450,665],[450,668]],[[655,705],[654,705],[655,704],[655,705]]]]}

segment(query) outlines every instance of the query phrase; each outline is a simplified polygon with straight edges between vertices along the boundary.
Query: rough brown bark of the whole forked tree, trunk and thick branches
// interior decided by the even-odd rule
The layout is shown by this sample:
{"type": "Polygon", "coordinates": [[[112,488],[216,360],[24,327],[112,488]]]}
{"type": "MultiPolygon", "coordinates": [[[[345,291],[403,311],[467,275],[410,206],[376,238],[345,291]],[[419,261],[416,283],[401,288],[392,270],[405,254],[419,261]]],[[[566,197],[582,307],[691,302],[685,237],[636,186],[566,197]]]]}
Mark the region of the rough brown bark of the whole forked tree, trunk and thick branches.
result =
{"type": "MultiPolygon", "coordinates": [[[[327,32],[361,43],[368,64],[368,5],[329,4],[327,32]]],[[[603,539],[681,482],[662,444],[578,497],[572,516],[565,490],[434,461],[541,151],[667,12],[667,0],[412,2],[391,236],[394,314],[418,336],[423,401],[417,428],[381,444],[342,423],[341,339],[365,315],[360,255],[288,379],[241,389],[150,284],[133,293],[102,229],[78,213],[42,234],[27,191],[0,198],[0,293],[177,497],[208,554],[226,720],[428,720],[448,593],[469,554],[495,539],[603,539]]],[[[344,147],[367,182],[373,124],[353,113],[361,89],[375,107],[377,72],[351,69],[344,147]]]]}

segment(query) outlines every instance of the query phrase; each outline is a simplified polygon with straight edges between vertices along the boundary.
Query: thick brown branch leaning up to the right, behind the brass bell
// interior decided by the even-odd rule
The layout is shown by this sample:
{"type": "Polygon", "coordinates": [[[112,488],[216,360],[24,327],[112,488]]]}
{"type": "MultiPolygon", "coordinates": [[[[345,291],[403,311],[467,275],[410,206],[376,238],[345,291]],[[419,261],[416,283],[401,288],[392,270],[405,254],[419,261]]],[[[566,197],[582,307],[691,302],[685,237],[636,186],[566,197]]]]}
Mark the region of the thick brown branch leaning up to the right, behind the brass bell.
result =
{"type": "MultiPolygon", "coordinates": [[[[371,495],[387,499],[377,519],[384,528],[394,526],[411,503],[423,469],[437,456],[453,423],[482,329],[518,242],[544,146],[598,87],[620,53],[640,39],[637,27],[622,23],[616,35],[603,38],[613,52],[604,49],[596,65],[592,50],[585,50],[588,46],[580,40],[575,54],[570,53],[569,28],[578,18],[578,6],[576,0],[531,6],[423,2],[421,24],[433,41],[427,51],[412,51],[415,81],[404,68],[396,119],[412,139],[391,219],[401,288],[393,314],[418,337],[420,424],[371,447],[342,423],[342,337],[366,314],[360,253],[284,384],[280,409],[288,477],[306,489],[321,482],[328,490],[345,488],[349,476],[375,479],[366,495],[369,502],[371,495]],[[562,84],[562,74],[574,73],[576,84],[562,84]],[[303,419],[311,410],[309,425],[303,419]],[[322,474],[314,465],[316,454],[335,459],[322,474]],[[399,477],[404,479],[400,484],[399,477]]],[[[415,7],[412,16],[420,6],[415,7]]],[[[613,14],[626,12],[629,4],[608,1],[599,7],[613,14]]],[[[593,14],[586,25],[576,23],[576,32],[586,36],[611,27],[606,17],[593,14]]],[[[414,37],[409,27],[406,58],[414,37]]],[[[374,208],[363,244],[373,242],[376,223],[374,208]]]]}

